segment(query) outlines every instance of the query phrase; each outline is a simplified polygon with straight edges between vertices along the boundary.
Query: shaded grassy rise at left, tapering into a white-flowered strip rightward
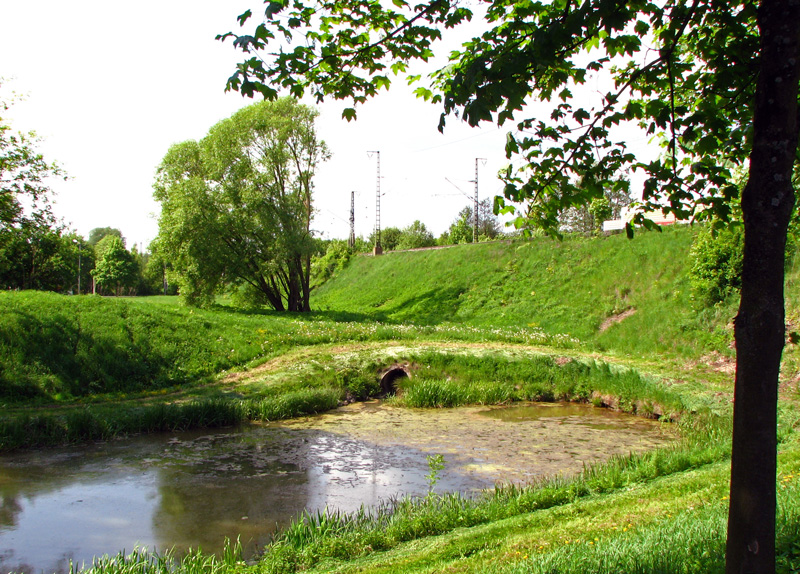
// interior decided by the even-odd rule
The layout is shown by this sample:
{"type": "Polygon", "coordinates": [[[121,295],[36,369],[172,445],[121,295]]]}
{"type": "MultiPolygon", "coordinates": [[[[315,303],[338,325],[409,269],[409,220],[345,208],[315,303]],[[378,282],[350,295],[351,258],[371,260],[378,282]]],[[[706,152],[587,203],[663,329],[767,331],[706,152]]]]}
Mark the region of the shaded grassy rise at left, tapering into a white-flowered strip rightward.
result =
{"type": "Polygon", "coordinates": [[[47,404],[195,384],[298,346],[386,340],[575,346],[533,328],[337,321],[139,300],[0,293],[0,404],[47,404]]]}

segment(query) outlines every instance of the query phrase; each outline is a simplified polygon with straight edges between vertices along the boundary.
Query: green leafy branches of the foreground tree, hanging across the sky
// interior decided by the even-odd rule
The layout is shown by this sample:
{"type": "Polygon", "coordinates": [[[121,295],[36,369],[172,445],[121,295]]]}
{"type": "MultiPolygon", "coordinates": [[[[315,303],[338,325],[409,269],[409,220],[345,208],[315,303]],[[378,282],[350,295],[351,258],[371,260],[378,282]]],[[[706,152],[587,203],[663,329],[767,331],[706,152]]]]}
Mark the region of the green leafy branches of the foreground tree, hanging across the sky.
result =
{"type": "MultiPolygon", "coordinates": [[[[506,153],[519,168],[504,174],[495,208],[514,212],[506,200],[523,203],[520,226],[557,233],[559,213],[603,198],[599,183],[627,191],[619,176],[631,169],[646,174],[645,207],[665,205],[682,219],[728,216],[737,193],[731,170],[746,161],[751,143],[759,54],[753,3],[484,0],[474,10],[456,0],[265,4],[249,34],[219,36],[234,38],[247,54],[228,88],[268,99],[280,90],[348,99],[347,119],[392,76],[407,74],[412,61],[428,61],[444,31],[482,15],[485,32],[453,52],[417,94],[442,104],[440,129],[451,115],[471,125],[513,120],[506,153]],[[591,77],[610,78],[610,87],[584,104],[574,92],[591,77]],[[550,102],[548,117],[525,117],[533,102],[550,102]],[[626,123],[660,138],[663,155],[639,161],[617,130],[626,123]]],[[[252,16],[248,10],[240,24],[252,16]]],[[[653,226],[641,214],[636,223],[653,226]]]]}

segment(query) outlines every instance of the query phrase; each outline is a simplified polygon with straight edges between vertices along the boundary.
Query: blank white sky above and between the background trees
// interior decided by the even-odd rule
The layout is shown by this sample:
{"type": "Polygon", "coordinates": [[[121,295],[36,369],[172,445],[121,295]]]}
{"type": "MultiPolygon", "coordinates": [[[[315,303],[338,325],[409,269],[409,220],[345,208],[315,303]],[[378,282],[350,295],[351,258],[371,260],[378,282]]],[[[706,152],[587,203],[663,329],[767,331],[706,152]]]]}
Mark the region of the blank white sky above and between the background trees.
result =
{"type": "MultiPolygon", "coordinates": [[[[236,16],[258,13],[259,0],[0,0],[3,92],[25,96],[9,117],[35,130],[48,160],[70,176],[54,182],[55,212],[88,236],[95,227],[122,230],[128,246],[157,235],[152,198],[156,167],[170,145],[200,139],[251,100],[225,93],[240,59],[230,41],[236,16]]],[[[249,30],[249,28],[248,28],[249,30]]],[[[470,128],[416,99],[398,79],[390,92],[341,119],[341,102],[321,106],[318,130],[333,153],[316,177],[314,228],[324,237],[349,233],[350,192],[356,191],[356,234],[375,224],[376,158],[381,152],[381,226],[421,220],[445,231],[474,193],[500,193],[506,129],[470,128]],[[449,183],[447,179],[450,180],[449,183]]]]}

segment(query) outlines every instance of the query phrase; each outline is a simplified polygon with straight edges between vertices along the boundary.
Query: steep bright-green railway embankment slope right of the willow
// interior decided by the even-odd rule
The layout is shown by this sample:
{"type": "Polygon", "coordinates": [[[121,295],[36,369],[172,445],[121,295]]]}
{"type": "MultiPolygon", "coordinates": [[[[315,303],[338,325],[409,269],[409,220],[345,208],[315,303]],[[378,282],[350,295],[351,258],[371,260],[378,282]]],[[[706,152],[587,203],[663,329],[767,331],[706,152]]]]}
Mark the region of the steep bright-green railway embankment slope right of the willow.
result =
{"type": "Polygon", "coordinates": [[[729,352],[732,305],[698,313],[687,279],[695,229],[460,245],[362,256],[314,292],[315,308],[381,321],[527,326],[599,350],[729,352]]]}

